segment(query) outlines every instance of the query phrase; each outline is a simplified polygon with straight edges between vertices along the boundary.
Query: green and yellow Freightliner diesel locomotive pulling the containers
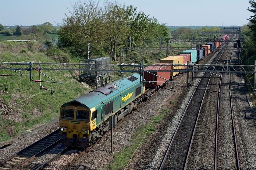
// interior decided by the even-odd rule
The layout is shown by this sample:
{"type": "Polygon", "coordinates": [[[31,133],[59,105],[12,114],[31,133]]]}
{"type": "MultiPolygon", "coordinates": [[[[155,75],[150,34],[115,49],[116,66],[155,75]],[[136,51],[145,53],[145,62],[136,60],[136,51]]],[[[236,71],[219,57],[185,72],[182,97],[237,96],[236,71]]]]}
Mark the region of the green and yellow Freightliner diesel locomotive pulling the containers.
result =
{"type": "Polygon", "coordinates": [[[137,108],[145,91],[140,79],[134,73],[63,104],[59,116],[62,144],[86,148],[110,129],[110,116],[117,123],[137,108]]]}

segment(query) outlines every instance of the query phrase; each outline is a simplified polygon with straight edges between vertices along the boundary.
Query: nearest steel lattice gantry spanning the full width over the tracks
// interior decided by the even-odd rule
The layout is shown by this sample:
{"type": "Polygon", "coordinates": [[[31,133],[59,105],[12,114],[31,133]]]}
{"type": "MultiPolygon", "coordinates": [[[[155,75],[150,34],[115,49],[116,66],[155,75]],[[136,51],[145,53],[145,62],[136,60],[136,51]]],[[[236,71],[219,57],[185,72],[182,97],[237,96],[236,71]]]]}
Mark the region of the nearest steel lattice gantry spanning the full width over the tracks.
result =
{"type": "MultiPolygon", "coordinates": [[[[0,69],[9,70],[87,70],[87,71],[118,71],[118,72],[132,72],[142,73],[144,67],[153,66],[151,70],[158,70],[158,65],[154,64],[78,64],[78,63],[0,63],[0,69]],[[40,67],[39,67],[40,66],[40,67]],[[86,68],[86,69],[84,69],[86,68]]],[[[151,71],[148,70],[148,71],[151,71]]],[[[256,65],[211,65],[211,64],[170,64],[165,65],[165,70],[170,72],[212,72],[212,73],[256,73],[256,65]],[[180,67],[178,67],[180,66],[180,67]],[[188,69],[181,66],[189,66],[188,69]]]]}

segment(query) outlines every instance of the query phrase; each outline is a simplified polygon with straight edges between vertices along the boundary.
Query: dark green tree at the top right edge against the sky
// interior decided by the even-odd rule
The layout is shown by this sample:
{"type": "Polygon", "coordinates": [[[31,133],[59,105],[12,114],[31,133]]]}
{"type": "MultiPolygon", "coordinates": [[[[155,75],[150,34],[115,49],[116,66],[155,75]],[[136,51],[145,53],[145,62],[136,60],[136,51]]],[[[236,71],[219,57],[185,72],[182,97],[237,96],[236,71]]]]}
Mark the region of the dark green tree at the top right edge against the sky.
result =
{"type": "Polygon", "coordinates": [[[248,8],[247,10],[252,12],[254,15],[252,15],[249,19],[251,22],[251,25],[249,26],[249,29],[251,29],[251,33],[252,33],[252,38],[254,41],[256,41],[256,2],[254,0],[249,1],[250,5],[252,8],[248,8]]]}

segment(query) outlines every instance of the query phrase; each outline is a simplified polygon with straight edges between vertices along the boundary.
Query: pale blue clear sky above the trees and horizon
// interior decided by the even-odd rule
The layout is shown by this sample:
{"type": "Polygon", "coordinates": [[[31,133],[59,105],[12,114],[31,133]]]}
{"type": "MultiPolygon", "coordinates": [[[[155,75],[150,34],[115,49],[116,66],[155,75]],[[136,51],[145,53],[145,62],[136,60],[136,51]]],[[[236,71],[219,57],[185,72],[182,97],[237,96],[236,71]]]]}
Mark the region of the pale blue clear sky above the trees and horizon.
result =
{"type": "MultiPolygon", "coordinates": [[[[79,0],[0,0],[0,24],[39,25],[62,23],[71,4],[79,0]],[[67,9],[68,7],[68,9],[67,9]]],[[[82,0],[83,1],[83,0],[82,0]]],[[[97,1],[97,0],[96,0],[97,1]]],[[[115,0],[108,0],[115,2],[115,0]]],[[[99,6],[103,6],[100,0],[99,6]]],[[[167,26],[243,26],[253,15],[249,0],[116,0],[119,4],[137,7],[167,26]]]]}

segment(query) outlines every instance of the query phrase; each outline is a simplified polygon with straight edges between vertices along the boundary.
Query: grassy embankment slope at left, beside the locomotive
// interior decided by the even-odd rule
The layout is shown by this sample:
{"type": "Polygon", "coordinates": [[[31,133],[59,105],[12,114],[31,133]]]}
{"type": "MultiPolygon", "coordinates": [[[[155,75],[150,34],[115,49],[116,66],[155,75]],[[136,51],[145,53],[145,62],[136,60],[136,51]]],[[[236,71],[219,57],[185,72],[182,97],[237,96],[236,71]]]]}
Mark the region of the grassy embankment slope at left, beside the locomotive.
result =
{"type": "MultiPolygon", "coordinates": [[[[70,57],[60,50],[39,52],[42,49],[37,42],[2,42],[0,43],[1,62],[40,62],[60,63],[68,61],[78,63],[79,58],[70,57]],[[52,54],[57,53],[58,54],[52,54]]],[[[37,66],[35,66],[38,68],[37,66]]],[[[19,71],[29,74],[27,71],[19,71]]],[[[65,102],[91,91],[85,83],[79,83],[78,71],[42,70],[48,77],[59,83],[42,82],[41,86],[49,90],[40,90],[39,83],[30,81],[30,76],[0,76],[0,141],[6,141],[26,130],[43,124],[59,116],[59,108],[65,102]],[[8,89],[5,91],[5,87],[8,89]],[[57,92],[63,92],[57,93],[57,92]]],[[[0,75],[17,75],[12,70],[0,69],[0,75]]],[[[32,79],[39,80],[39,72],[32,71],[32,79]]],[[[52,81],[41,74],[42,81],[52,81]]]]}

